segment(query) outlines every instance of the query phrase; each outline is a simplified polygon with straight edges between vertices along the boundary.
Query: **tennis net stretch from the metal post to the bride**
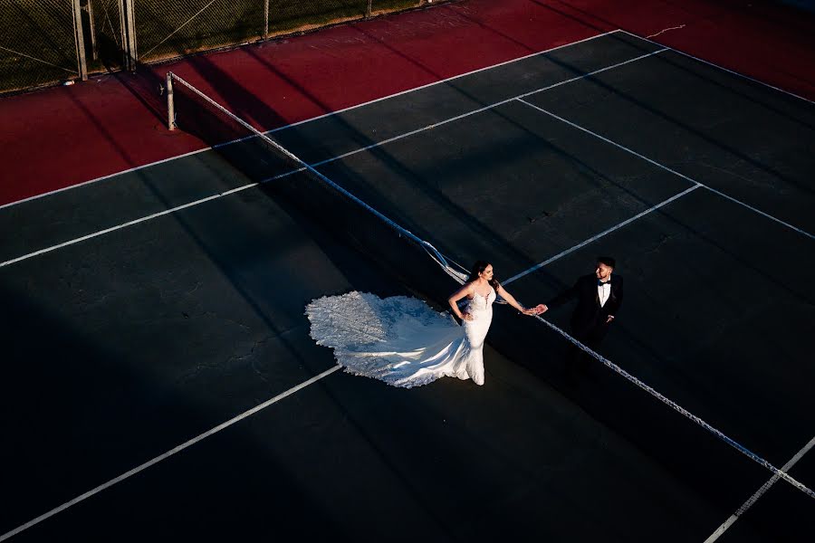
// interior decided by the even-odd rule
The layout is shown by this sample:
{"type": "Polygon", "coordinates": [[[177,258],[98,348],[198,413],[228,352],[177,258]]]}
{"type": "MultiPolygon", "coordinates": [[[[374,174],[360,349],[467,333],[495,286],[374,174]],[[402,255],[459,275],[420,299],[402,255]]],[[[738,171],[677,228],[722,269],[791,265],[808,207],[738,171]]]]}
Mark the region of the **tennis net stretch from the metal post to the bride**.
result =
{"type": "MultiPolygon", "coordinates": [[[[288,205],[309,222],[323,224],[343,242],[387,265],[400,281],[414,284],[434,274],[444,277],[438,274],[439,267],[456,282],[464,280],[466,270],[461,265],[335,183],[268,133],[172,72],[167,85],[170,129],[184,129],[205,141],[253,184],[262,186],[275,202],[288,205]],[[404,262],[411,262],[410,266],[404,262]]],[[[424,292],[431,300],[445,300],[451,283],[431,282],[437,288],[424,292]]]]}

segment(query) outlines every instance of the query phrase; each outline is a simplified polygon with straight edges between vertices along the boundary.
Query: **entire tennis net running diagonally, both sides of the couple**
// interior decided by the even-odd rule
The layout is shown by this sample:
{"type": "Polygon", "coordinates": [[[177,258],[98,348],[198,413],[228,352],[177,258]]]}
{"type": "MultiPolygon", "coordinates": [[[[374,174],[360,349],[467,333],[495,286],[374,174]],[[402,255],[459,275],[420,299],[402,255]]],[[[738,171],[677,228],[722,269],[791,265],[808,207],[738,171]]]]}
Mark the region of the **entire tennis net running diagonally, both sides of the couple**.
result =
{"type": "MultiPolygon", "coordinates": [[[[236,168],[253,179],[254,183],[267,187],[265,190],[269,191],[269,195],[276,202],[287,202],[289,209],[299,210],[306,222],[323,224],[329,232],[340,236],[343,243],[349,243],[366,258],[383,265],[392,277],[419,291],[428,300],[445,300],[451,291],[452,283],[442,281],[444,275],[438,273],[439,266],[457,282],[463,281],[465,270],[460,265],[451,262],[432,244],[351,194],[291,150],[283,148],[268,134],[255,129],[250,123],[235,116],[174,74],[168,74],[169,88],[175,89],[171,99],[172,105],[168,108],[171,126],[186,129],[204,139],[236,168]],[[393,243],[395,235],[409,243],[393,243]],[[428,255],[430,258],[427,258],[428,255]]],[[[651,400],[648,400],[646,395],[630,395],[630,389],[625,385],[637,386],[647,392],[647,395],[670,407],[673,412],[682,414],[698,427],[704,428],[708,435],[727,443],[810,498],[815,498],[815,493],[809,487],[779,470],[762,456],[660,394],[637,376],[629,374],[622,367],[581,344],[563,329],[546,319],[540,317],[536,319],[551,332],[566,338],[600,364],[609,367],[614,374],[624,377],[624,381],[617,379],[609,382],[605,393],[609,399],[619,401],[620,398],[625,398],[620,404],[629,404],[634,411],[641,411],[642,408],[647,408],[651,400]]],[[[509,354],[510,358],[529,358],[530,353],[537,351],[536,345],[540,344],[537,340],[530,341],[530,338],[541,337],[540,323],[536,323],[534,319],[525,319],[523,325],[519,323],[513,325],[513,333],[510,335],[505,334],[505,330],[501,330],[502,327],[497,327],[493,333],[494,343],[498,350],[504,355],[509,354]]],[[[650,422],[654,424],[659,419],[661,424],[663,416],[660,414],[650,422]]],[[[667,432],[666,440],[673,441],[678,431],[691,432],[692,429],[692,426],[678,426],[675,430],[667,432]]],[[[654,428],[654,432],[662,433],[663,429],[654,428]]],[[[653,438],[654,434],[652,433],[650,437],[653,438]]],[[[724,463],[724,461],[717,463],[708,458],[708,462],[697,465],[695,471],[705,475],[702,479],[707,479],[715,472],[716,465],[724,463]]]]}

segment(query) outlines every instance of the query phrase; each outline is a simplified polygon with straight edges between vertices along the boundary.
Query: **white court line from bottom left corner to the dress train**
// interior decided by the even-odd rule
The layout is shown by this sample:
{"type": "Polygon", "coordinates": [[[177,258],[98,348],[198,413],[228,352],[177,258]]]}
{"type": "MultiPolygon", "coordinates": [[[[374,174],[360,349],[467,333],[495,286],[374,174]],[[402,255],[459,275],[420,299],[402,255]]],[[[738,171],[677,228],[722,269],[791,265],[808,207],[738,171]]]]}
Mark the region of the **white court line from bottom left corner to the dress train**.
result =
{"type": "Polygon", "coordinates": [[[6,532],[2,536],[0,536],[0,541],[5,541],[8,538],[12,538],[13,536],[15,536],[15,535],[19,534],[20,532],[22,532],[24,529],[29,529],[29,528],[33,527],[34,525],[39,524],[43,520],[49,519],[49,518],[53,517],[54,515],[56,515],[57,513],[68,509],[69,507],[72,507],[73,505],[76,505],[77,503],[79,503],[79,502],[81,502],[83,500],[87,500],[88,498],[91,498],[91,496],[93,496],[94,494],[98,494],[99,492],[104,491],[105,489],[109,489],[114,484],[117,484],[117,483],[119,483],[121,481],[124,481],[125,479],[128,479],[129,477],[135,475],[136,473],[143,472],[144,470],[148,469],[150,466],[156,465],[158,462],[161,462],[163,460],[167,460],[173,454],[176,454],[177,452],[181,452],[184,449],[187,449],[187,447],[190,447],[190,446],[198,443],[199,441],[202,441],[202,440],[206,439],[207,437],[209,437],[209,436],[211,436],[211,435],[213,435],[215,433],[218,433],[221,430],[224,430],[225,428],[228,428],[229,426],[231,426],[231,425],[233,425],[235,423],[238,423],[238,422],[244,420],[246,417],[251,416],[251,415],[265,409],[269,405],[276,404],[277,402],[279,402],[280,400],[282,400],[286,396],[292,395],[295,392],[298,392],[298,391],[302,390],[306,386],[313,385],[314,383],[316,383],[317,381],[319,381],[323,377],[330,376],[332,373],[334,373],[338,369],[340,369],[340,366],[331,367],[331,368],[325,370],[324,372],[322,372],[320,375],[313,376],[311,379],[303,381],[300,385],[292,386],[292,388],[290,388],[289,390],[287,390],[287,391],[285,391],[285,392],[283,392],[283,393],[281,393],[279,395],[274,396],[270,400],[266,400],[263,404],[255,405],[252,409],[250,409],[248,411],[245,411],[244,413],[239,414],[239,415],[229,419],[225,423],[218,424],[215,428],[207,430],[205,433],[198,434],[196,437],[194,437],[194,438],[192,438],[192,439],[190,439],[190,440],[188,440],[188,441],[186,441],[184,443],[181,443],[177,447],[175,447],[173,449],[170,449],[168,452],[165,452],[164,454],[158,455],[156,458],[154,458],[154,459],[152,459],[152,460],[150,460],[148,462],[144,462],[143,464],[133,468],[129,472],[124,472],[119,477],[111,479],[110,481],[105,482],[105,483],[99,485],[98,487],[96,487],[94,489],[91,489],[90,491],[87,491],[84,494],[79,495],[76,498],[74,498],[73,500],[66,501],[61,506],[56,507],[53,510],[48,511],[47,513],[43,513],[42,515],[40,515],[36,519],[30,520],[30,521],[26,522],[25,524],[22,524],[22,525],[18,526],[17,528],[15,528],[15,529],[13,529],[13,530],[11,530],[9,532],[6,532]]]}

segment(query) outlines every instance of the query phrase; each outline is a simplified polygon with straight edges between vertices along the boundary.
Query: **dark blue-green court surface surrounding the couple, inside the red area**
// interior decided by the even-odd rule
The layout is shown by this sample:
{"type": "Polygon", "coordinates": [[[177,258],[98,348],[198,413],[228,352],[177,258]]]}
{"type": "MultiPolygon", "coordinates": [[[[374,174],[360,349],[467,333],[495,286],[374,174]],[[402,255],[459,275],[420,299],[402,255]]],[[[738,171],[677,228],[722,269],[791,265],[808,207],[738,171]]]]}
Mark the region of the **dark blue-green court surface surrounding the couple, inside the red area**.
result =
{"type": "MultiPolygon", "coordinates": [[[[272,136],[526,305],[615,255],[604,357],[776,468],[810,443],[812,103],[610,33],[272,136]]],[[[310,300],[457,284],[313,176],[255,185],[264,152],[0,208],[0,540],[702,543],[771,479],[599,361],[567,383],[507,307],[483,387],[333,371],[310,300]]],[[[813,507],[777,481],[717,540],[810,540],[813,507]]]]}

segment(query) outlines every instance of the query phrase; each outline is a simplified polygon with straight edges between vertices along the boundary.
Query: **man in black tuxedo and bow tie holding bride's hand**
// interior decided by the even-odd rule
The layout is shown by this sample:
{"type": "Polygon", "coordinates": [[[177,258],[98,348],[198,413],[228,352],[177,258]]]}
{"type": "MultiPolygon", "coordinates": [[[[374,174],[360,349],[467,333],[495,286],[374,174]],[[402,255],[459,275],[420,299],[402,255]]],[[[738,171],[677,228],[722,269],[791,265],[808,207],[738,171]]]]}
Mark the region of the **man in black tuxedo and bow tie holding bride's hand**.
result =
{"type": "MultiPolygon", "coordinates": [[[[586,347],[597,350],[617,317],[623,299],[622,277],[613,273],[616,262],[610,256],[599,256],[594,273],[583,275],[574,286],[562,291],[542,305],[541,313],[577,299],[571,314],[571,335],[586,347]]],[[[588,367],[588,355],[572,346],[566,376],[574,380],[576,370],[588,367]]]]}

